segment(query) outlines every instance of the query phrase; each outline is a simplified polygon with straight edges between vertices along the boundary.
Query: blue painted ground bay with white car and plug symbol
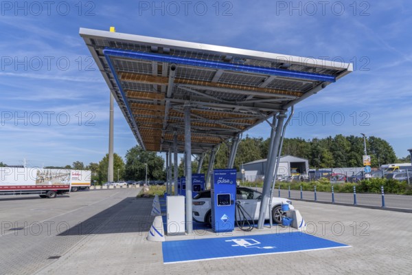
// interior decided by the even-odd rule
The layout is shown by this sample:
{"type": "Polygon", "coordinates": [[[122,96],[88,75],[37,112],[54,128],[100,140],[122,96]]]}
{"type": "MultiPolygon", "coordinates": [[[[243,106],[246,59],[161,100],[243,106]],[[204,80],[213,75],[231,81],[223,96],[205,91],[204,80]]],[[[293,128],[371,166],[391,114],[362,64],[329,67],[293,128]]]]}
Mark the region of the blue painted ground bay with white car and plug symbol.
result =
{"type": "Polygon", "coordinates": [[[231,236],[162,243],[163,263],[350,247],[301,232],[231,236]]]}

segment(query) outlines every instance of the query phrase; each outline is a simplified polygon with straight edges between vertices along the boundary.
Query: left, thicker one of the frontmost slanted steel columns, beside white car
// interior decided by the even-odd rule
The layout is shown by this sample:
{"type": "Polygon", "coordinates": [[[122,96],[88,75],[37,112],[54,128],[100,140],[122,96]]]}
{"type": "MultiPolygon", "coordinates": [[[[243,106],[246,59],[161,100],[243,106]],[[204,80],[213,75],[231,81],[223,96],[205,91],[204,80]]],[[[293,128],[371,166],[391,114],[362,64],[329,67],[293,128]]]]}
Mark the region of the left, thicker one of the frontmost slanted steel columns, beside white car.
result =
{"type": "MultiPolygon", "coordinates": [[[[263,228],[264,217],[266,217],[266,212],[268,211],[268,203],[271,194],[271,184],[273,181],[273,171],[275,169],[277,152],[279,150],[280,137],[282,135],[282,126],[284,123],[285,112],[281,111],[277,115],[277,126],[275,135],[271,135],[271,148],[272,151],[268,152],[268,162],[266,166],[266,175],[264,175],[263,190],[262,190],[262,203],[260,203],[260,213],[258,221],[258,229],[263,228]]],[[[269,213],[272,214],[272,213],[269,213]]]]}

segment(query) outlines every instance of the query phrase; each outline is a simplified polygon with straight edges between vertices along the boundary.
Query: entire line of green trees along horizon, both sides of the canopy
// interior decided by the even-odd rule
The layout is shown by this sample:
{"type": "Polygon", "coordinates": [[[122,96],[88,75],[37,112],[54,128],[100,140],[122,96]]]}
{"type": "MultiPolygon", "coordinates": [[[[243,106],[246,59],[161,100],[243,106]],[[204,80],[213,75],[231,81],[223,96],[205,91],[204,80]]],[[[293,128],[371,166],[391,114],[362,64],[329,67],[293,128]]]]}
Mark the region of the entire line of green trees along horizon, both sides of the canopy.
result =
{"type": "MultiPolygon", "coordinates": [[[[236,154],[234,167],[242,169],[242,164],[253,162],[268,157],[269,138],[249,137],[241,140],[236,154]]],[[[220,144],[216,153],[214,168],[226,168],[229,159],[230,142],[220,144]]],[[[411,157],[398,159],[392,146],[379,137],[370,136],[366,140],[367,154],[371,155],[371,166],[378,168],[382,164],[394,162],[411,162],[411,157]]],[[[322,139],[313,138],[304,140],[300,137],[285,138],[282,155],[293,155],[308,159],[310,168],[334,168],[334,167],[361,167],[363,166],[364,145],[363,137],[354,135],[335,135],[322,139]]],[[[198,156],[197,156],[198,157],[198,156]]],[[[192,171],[196,173],[198,159],[192,162],[192,171]]],[[[141,146],[134,146],[127,151],[124,159],[117,153],[113,157],[113,179],[140,180],[146,178],[146,164],[148,179],[165,179],[165,161],[156,152],[144,151],[141,146]]],[[[209,154],[203,159],[201,173],[207,172],[209,154]]],[[[7,166],[0,162],[0,166],[7,166]]],[[[102,184],[107,181],[108,154],[100,162],[91,162],[84,165],[76,161],[67,166],[46,166],[45,168],[64,168],[74,170],[91,170],[92,182],[102,184]]],[[[178,166],[179,177],[184,174],[184,160],[180,159],[178,166]]]]}

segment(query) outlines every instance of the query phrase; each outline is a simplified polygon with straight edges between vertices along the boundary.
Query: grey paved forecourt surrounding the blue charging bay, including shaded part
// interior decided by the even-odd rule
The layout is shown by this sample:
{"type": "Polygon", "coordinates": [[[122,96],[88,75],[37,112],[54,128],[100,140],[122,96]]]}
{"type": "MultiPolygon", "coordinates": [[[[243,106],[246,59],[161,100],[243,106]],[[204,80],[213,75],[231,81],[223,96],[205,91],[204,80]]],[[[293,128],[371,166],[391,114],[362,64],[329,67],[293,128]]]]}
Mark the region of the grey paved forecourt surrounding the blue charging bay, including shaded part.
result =
{"type": "MultiPolygon", "coordinates": [[[[77,192],[69,198],[0,199],[0,273],[411,274],[411,213],[306,201],[294,205],[308,224],[308,234],[352,248],[164,265],[161,243],[146,240],[153,220],[152,199],[135,199],[137,192],[138,188],[124,188],[77,192]],[[5,230],[10,224],[3,221],[19,226],[24,221],[61,226],[67,222],[70,229],[55,226],[36,235],[33,223],[32,231],[27,229],[24,235],[21,230],[5,230]],[[84,229],[87,225],[93,227],[84,229]],[[60,258],[49,260],[49,256],[60,258]]],[[[282,228],[282,233],[288,230],[282,228]]],[[[271,230],[251,234],[265,231],[271,230]]]]}

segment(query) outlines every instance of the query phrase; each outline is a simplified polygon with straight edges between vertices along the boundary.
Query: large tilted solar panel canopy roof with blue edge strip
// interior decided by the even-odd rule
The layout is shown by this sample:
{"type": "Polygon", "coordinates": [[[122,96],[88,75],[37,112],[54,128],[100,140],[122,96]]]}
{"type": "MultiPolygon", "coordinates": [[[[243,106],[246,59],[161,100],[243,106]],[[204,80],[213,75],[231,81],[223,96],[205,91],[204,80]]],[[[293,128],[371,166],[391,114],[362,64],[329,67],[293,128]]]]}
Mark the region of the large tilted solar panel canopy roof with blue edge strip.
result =
{"type": "MultiPolygon", "coordinates": [[[[352,72],[352,64],[80,29],[137,142],[203,153],[352,72]]],[[[269,130],[268,130],[269,131],[269,130]]]]}

